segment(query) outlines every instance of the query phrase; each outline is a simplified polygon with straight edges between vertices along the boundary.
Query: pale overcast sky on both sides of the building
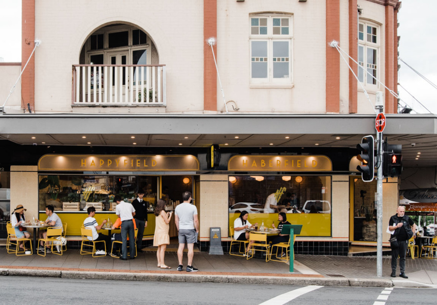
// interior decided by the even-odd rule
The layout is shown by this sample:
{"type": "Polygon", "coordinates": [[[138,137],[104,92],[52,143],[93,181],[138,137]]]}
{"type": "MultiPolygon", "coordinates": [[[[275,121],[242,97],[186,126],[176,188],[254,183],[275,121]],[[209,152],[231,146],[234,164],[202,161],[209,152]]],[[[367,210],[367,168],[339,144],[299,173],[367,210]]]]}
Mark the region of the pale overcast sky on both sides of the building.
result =
{"type": "MultiPolygon", "coordinates": [[[[437,0],[402,0],[399,11],[399,57],[437,84],[437,0]]],[[[0,57],[5,62],[21,61],[21,1],[0,0],[0,57]]],[[[1,59],[0,59],[1,60],[1,59]]],[[[404,63],[399,62],[400,104],[413,108],[412,113],[437,113],[437,89],[428,84],[404,63]],[[420,105],[416,98],[425,107],[420,105]]],[[[381,80],[384,82],[383,80],[381,80]]]]}

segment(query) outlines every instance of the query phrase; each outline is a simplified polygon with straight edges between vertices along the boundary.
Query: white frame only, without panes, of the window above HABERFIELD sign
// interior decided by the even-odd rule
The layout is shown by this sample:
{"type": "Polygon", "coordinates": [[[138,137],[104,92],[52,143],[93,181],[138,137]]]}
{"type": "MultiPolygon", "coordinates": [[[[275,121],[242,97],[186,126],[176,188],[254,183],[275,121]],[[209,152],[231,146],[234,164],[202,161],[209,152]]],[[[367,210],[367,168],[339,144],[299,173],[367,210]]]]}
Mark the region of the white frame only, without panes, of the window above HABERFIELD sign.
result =
{"type": "Polygon", "coordinates": [[[293,62],[293,15],[290,14],[256,14],[249,15],[249,78],[251,84],[255,85],[291,85],[292,84],[292,62],[293,62]],[[252,18],[267,18],[267,34],[253,35],[252,34],[252,18]],[[289,19],[289,34],[288,35],[273,35],[273,18],[288,18],[289,19]],[[267,77],[252,78],[252,42],[267,41],[267,77]],[[273,42],[287,41],[289,43],[289,77],[288,78],[273,78],[273,42]]]}

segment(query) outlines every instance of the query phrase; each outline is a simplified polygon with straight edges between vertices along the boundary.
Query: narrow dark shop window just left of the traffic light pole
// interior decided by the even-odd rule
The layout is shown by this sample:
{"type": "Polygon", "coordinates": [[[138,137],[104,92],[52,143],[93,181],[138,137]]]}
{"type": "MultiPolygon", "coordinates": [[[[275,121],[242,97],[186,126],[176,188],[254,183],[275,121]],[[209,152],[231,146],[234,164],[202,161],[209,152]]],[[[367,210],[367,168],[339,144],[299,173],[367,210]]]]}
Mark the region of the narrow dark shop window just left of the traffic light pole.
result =
{"type": "Polygon", "coordinates": [[[354,179],[354,241],[377,241],[377,182],[354,179]]]}

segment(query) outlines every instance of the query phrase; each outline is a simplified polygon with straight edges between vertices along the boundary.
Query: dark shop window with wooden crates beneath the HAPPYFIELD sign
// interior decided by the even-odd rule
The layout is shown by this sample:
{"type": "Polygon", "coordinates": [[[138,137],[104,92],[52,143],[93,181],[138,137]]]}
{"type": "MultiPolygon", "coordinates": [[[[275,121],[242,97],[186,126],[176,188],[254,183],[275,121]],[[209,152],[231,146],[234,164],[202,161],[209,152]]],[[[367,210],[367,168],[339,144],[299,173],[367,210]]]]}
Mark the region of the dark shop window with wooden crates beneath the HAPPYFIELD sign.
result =
{"type": "Polygon", "coordinates": [[[40,175],[39,210],[52,204],[56,211],[83,211],[88,206],[96,210],[113,211],[115,195],[132,202],[138,190],[145,195],[148,207],[158,200],[158,176],[135,175],[40,175]]]}

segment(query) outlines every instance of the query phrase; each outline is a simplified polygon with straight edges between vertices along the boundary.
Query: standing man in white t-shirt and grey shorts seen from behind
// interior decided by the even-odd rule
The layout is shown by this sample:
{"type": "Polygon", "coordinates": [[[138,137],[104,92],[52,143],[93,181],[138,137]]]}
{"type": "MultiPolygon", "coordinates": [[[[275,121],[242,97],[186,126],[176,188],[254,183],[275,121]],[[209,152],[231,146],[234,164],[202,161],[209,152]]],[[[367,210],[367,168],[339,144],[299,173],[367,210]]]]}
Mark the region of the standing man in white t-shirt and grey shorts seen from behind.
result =
{"type": "Polygon", "coordinates": [[[179,232],[179,248],[177,249],[177,259],[179,260],[178,271],[182,271],[182,256],[183,249],[188,248],[188,265],[186,266],[187,272],[196,272],[197,268],[193,267],[194,256],[194,243],[197,242],[197,236],[199,234],[199,219],[197,217],[197,208],[191,204],[191,192],[184,192],[182,194],[183,202],[176,206],[174,210],[174,219],[176,228],[179,232]]]}

